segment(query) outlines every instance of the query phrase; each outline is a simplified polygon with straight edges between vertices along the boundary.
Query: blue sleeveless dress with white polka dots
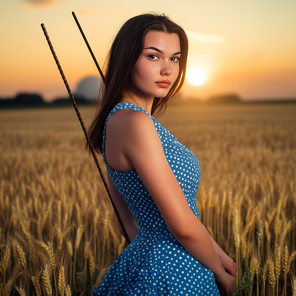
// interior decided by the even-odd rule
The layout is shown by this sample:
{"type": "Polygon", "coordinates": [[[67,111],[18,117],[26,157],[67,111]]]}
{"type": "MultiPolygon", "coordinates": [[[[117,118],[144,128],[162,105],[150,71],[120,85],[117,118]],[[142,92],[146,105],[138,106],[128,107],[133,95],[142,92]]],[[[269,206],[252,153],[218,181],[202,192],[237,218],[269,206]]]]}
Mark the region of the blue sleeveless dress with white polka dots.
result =
{"type": "MultiPolygon", "coordinates": [[[[196,193],[200,183],[200,164],[195,155],[141,107],[124,102],[117,104],[109,117],[122,109],[137,110],[150,116],[167,157],[193,213],[199,218],[196,193]]],[[[103,159],[118,192],[135,217],[139,231],[108,270],[93,296],[147,295],[220,295],[214,274],[177,241],[141,181],[136,169],[119,172],[103,159]]]]}

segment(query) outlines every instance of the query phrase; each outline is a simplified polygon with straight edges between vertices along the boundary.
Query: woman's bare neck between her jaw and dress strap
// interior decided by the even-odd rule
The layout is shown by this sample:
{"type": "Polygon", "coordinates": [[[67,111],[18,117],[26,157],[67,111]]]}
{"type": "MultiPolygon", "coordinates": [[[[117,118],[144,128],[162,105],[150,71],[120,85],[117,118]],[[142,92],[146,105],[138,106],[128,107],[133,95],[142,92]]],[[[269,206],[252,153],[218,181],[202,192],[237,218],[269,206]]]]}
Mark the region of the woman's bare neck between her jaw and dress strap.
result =
{"type": "Polygon", "coordinates": [[[135,104],[151,114],[153,101],[154,96],[143,93],[138,88],[133,88],[131,94],[128,94],[127,91],[123,92],[120,103],[129,102],[135,104]]]}

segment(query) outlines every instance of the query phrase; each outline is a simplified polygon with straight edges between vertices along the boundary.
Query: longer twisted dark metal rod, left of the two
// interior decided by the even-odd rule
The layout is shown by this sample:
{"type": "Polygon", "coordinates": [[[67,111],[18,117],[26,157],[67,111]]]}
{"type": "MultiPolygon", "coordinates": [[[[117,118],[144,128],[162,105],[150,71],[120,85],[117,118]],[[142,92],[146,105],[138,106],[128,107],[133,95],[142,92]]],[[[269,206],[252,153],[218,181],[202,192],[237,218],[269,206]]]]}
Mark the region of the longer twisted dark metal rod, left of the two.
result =
{"type": "Polygon", "coordinates": [[[49,39],[49,36],[48,36],[48,34],[47,34],[47,32],[46,32],[46,29],[45,29],[44,24],[41,24],[41,27],[42,27],[42,30],[43,30],[44,35],[45,35],[45,37],[46,37],[46,40],[47,40],[47,42],[48,42],[49,48],[50,48],[50,50],[52,51],[52,55],[53,55],[54,60],[55,60],[55,62],[56,62],[56,64],[57,64],[57,67],[59,68],[59,73],[61,73],[61,75],[62,75],[63,81],[64,81],[65,86],[66,86],[67,91],[68,91],[68,94],[69,94],[69,96],[70,96],[70,98],[71,98],[71,100],[72,100],[73,106],[74,106],[74,108],[75,108],[75,111],[76,111],[76,113],[77,113],[78,119],[79,119],[80,124],[81,124],[81,126],[82,126],[82,129],[83,129],[84,135],[85,135],[85,137],[86,137],[86,141],[87,141],[87,143],[89,144],[89,147],[90,147],[90,150],[91,150],[91,154],[92,154],[93,157],[94,157],[94,160],[95,160],[95,162],[96,162],[96,167],[97,167],[98,170],[99,170],[99,173],[100,173],[100,175],[101,175],[101,178],[102,178],[102,180],[103,180],[103,183],[104,183],[104,185],[105,185],[105,188],[106,188],[106,190],[107,190],[107,193],[108,193],[108,195],[109,195],[110,201],[111,201],[112,206],[113,206],[113,208],[114,208],[115,214],[116,214],[116,216],[117,216],[117,218],[118,218],[118,221],[119,221],[119,223],[120,223],[120,226],[121,226],[121,228],[122,228],[122,230],[123,230],[124,236],[125,236],[125,238],[126,238],[128,244],[130,244],[131,241],[130,241],[130,239],[129,239],[129,237],[128,237],[128,234],[127,234],[127,232],[126,232],[126,229],[125,229],[125,227],[124,227],[124,225],[123,225],[123,221],[122,221],[122,219],[121,219],[121,217],[120,217],[120,214],[119,214],[119,212],[118,212],[118,209],[117,209],[117,207],[116,207],[116,205],[115,205],[114,199],[113,199],[112,194],[111,194],[110,189],[109,189],[109,186],[108,186],[107,181],[106,181],[106,179],[105,179],[105,177],[104,177],[104,174],[103,174],[102,168],[101,168],[101,166],[100,166],[100,164],[99,164],[99,161],[98,161],[98,159],[97,159],[97,157],[96,157],[96,153],[95,153],[94,148],[93,148],[93,146],[92,146],[92,144],[91,144],[91,141],[90,141],[90,139],[89,139],[89,135],[88,135],[88,133],[87,133],[87,130],[86,130],[85,125],[84,125],[84,123],[83,123],[83,120],[82,120],[82,118],[81,118],[81,115],[80,115],[79,109],[78,109],[78,107],[77,107],[77,105],[76,105],[76,102],[75,102],[74,96],[73,96],[72,91],[71,91],[71,89],[70,89],[70,86],[69,86],[69,84],[68,84],[68,82],[67,82],[67,80],[66,80],[66,77],[65,77],[65,75],[64,75],[64,72],[63,72],[63,70],[62,70],[62,67],[61,67],[61,65],[59,64],[59,61],[58,61],[58,59],[57,59],[57,55],[56,55],[55,52],[54,52],[54,49],[53,49],[53,47],[52,47],[52,43],[50,42],[50,39],[49,39]]]}

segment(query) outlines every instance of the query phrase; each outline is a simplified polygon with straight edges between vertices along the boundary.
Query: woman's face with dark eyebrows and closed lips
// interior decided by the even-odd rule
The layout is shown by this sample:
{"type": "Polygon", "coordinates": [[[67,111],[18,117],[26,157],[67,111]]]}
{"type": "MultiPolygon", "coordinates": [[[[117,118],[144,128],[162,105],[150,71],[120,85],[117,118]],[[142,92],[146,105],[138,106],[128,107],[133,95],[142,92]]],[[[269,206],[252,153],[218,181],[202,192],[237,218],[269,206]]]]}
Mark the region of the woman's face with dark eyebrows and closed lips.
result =
{"type": "Polygon", "coordinates": [[[176,33],[150,31],[133,67],[133,84],[144,94],[163,98],[179,74],[180,41],[176,33]]]}

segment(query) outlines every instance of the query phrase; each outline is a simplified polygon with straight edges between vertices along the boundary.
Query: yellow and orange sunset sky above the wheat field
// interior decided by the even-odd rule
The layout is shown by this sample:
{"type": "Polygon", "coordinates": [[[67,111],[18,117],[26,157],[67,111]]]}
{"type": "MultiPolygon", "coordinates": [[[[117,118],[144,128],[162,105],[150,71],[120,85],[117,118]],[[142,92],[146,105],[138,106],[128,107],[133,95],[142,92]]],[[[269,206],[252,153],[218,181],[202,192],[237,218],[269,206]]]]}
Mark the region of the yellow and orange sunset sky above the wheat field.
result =
{"type": "Polygon", "coordinates": [[[100,65],[126,20],[148,11],[170,16],[189,36],[184,98],[296,98],[295,0],[1,0],[1,98],[67,97],[41,23],[73,92],[83,78],[98,75],[72,11],[100,65]],[[205,74],[198,86],[189,82],[196,69],[205,74]]]}

